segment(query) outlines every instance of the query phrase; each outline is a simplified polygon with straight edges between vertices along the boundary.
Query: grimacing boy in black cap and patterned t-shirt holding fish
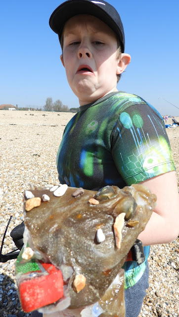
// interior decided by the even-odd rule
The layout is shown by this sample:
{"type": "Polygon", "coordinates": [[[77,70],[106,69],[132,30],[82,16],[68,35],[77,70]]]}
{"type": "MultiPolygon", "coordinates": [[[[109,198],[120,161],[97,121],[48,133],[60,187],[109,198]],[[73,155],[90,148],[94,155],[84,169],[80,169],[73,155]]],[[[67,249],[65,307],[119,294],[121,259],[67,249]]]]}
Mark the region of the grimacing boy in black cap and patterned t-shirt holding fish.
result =
{"type": "Polygon", "coordinates": [[[145,262],[124,264],[126,317],[137,317],[148,287],[149,245],[178,235],[179,197],[165,125],[151,105],[116,88],[131,56],[124,53],[123,25],[114,7],[104,0],[68,0],[49,24],[58,34],[61,62],[80,103],[57,153],[60,183],[91,190],[142,183],[157,195],[157,207],[138,237],[145,262]]]}

